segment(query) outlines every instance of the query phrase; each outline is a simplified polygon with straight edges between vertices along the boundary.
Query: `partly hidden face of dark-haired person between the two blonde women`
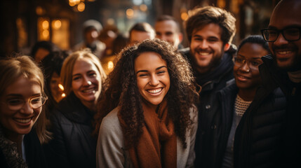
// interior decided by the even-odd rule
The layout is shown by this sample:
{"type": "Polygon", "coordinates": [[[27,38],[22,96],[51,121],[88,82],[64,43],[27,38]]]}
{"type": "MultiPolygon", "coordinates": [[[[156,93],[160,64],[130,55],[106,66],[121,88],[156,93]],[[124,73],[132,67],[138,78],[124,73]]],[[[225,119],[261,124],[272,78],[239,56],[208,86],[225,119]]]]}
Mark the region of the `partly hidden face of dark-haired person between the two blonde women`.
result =
{"type": "Polygon", "coordinates": [[[63,90],[58,86],[59,84],[61,84],[60,76],[58,76],[58,73],[53,72],[51,76],[50,88],[55,102],[60,102],[60,100],[62,99],[63,90]]]}

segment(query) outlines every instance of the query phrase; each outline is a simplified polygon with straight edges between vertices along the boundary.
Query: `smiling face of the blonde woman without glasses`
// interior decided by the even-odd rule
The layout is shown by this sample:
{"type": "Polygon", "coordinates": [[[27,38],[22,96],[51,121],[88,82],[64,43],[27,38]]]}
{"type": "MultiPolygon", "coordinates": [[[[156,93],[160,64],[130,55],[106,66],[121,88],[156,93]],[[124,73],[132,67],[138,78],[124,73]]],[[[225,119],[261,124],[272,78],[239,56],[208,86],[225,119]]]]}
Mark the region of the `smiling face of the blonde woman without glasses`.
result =
{"type": "Polygon", "coordinates": [[[72,72],[72,90],[85,106],[96,104],[101,92],[100,72],[91,60],[81,57],[76,60],[72,72]]]}

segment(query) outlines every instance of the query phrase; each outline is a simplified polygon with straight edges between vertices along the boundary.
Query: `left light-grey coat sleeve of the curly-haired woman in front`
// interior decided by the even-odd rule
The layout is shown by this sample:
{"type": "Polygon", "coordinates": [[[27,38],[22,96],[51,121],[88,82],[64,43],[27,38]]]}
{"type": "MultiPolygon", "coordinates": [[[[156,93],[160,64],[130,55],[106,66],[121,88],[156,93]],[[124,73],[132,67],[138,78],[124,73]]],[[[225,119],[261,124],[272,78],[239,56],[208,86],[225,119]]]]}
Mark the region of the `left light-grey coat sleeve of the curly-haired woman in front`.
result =
{"type": "Polygon", "coordinates": [[[123,133],[117,117],[117,110],[103,118],[96,148],[97,167],[127,167],[123,133]]]}

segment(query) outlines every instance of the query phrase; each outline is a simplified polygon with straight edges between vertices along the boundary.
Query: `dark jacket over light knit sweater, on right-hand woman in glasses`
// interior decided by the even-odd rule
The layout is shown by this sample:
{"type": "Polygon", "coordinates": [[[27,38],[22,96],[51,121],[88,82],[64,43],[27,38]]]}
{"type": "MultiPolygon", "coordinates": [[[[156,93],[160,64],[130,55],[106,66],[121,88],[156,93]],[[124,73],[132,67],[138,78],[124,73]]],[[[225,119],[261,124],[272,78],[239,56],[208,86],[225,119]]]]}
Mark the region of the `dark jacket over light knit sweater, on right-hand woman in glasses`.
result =
{"type": "Polygon", "coordinates": [[[212,111],[213,117],[208,118],[210,122],[208,121],[207,127],[203,128],[206,134],[202,134],[201,138],[204,141],[203,144],[199,144],[203,156],[199,158],[198,167],[221,167],[232,127],[234,102],[238,90],[235,81],[232,80],[229,86],[217,92],[216,111],[212,111]]]}

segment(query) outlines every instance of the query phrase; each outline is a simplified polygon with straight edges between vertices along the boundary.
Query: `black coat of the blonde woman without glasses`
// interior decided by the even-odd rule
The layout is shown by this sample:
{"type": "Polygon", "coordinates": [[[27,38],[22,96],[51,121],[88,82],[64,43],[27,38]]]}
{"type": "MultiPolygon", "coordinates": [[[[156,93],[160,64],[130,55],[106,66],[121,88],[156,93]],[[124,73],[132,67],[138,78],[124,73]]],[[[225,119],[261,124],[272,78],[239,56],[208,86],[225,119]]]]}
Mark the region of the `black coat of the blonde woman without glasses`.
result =
{"type": "Polygon", "coordinates": [[[96,167],[93,112],[72,92],[51,116],[53,140],[45,146],[50,167],[96,167]]]}

